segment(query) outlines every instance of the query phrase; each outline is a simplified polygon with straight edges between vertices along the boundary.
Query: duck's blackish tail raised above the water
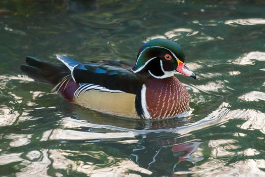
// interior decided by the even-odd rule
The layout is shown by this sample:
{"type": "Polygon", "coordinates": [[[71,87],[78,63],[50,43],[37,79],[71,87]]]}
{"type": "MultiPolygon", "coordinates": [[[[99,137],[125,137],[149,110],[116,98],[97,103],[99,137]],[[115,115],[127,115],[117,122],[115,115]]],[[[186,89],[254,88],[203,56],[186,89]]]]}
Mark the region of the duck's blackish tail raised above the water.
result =
{"type": "Polygon", "coordinates": [[[64,77],[71,74],[63,64],[41,61],[34,57],[26,58],[27,65],[21,65],[21,70],[36,81],[57,85],[64,77]]]}

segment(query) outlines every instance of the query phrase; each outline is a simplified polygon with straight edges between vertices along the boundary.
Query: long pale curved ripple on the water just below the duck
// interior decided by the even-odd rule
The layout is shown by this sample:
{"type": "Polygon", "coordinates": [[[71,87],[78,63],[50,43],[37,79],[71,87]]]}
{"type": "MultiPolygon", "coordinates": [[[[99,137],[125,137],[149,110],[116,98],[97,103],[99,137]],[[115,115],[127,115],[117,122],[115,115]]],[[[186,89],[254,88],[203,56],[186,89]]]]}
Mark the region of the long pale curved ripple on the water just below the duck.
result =
{"type": "MultiPolygon", "coordinates": [[[[105,140],[105,141],[114,141],[115,139],[133,139],[137,135],[146,135],[151,132],[174,132],[176,134],[187,134],[188,132],[205,128],[216,124],[217,122],[227,121],[226,115],[230,112],[229,104],[223,103],[220,108],[213,113],[209,114],[207,117],[180,127],[169,128],[169,129],[130,129],[123,128],[114,125],[104,125],[104,124],[93,124],[84,120],[76,120],[72,118],[64,118],[61,120],[61,125],[64,127],[77,129],[80,127],[89,127],[89,128],[97,128],[97,129],[109,129],[114,131],[121,132],[82,132],[78,130],[70,130],[70,129],[54,129],[45,131],[42,135],[41,141],[47,140],[105,140]]],[[[163,123],[163,122],[162,122],[163,123]]]]}

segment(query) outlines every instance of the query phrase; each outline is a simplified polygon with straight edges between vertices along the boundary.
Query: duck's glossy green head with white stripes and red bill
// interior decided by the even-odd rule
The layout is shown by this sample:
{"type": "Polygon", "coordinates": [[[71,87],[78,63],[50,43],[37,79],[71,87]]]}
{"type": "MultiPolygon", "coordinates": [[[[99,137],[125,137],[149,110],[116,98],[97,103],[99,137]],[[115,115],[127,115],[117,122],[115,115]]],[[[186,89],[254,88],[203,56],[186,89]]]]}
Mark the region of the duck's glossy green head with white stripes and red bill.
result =
{"type": "Polygon", "coordinates": [[[196,75],[185,64],[185,55],[178,43],[169,39],[152,39],[140,48],[134,73],[149,73],[152,77],[163,79],[180,72],[196,79],[196,75]]]}

